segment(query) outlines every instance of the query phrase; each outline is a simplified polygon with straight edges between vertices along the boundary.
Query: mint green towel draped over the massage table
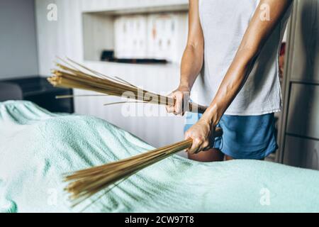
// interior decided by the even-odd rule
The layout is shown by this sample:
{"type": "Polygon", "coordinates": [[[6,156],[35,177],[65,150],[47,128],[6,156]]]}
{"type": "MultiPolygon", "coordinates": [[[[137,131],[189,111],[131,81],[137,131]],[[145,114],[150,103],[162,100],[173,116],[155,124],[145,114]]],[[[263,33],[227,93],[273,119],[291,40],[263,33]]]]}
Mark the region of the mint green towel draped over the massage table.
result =
{"type": "MultiPolygon", "coordinates": [[[[168,129],[169,131],[169,129],[168,129]]],[[[99,118],[52,114],[28,101],[0,103],[0,211],[319,211],[319,172],[271,162],[201,163],[178,155],[71,209],[65,172],[153,149],[99,118]]]]}

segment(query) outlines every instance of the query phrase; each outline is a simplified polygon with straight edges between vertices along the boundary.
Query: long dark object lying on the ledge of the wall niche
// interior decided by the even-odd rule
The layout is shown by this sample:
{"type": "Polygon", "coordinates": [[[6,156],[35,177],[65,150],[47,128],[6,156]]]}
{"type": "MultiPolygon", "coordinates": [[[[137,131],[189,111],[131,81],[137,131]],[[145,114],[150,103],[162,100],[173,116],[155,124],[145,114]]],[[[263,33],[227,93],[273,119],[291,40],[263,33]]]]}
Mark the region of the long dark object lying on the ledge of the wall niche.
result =
{"type": "Polygon", "coordinates": [[[131,64],[166,64],[167,60],[153,58],[116,58],[113,50],[103,50],[101,61],[131,64]]]}

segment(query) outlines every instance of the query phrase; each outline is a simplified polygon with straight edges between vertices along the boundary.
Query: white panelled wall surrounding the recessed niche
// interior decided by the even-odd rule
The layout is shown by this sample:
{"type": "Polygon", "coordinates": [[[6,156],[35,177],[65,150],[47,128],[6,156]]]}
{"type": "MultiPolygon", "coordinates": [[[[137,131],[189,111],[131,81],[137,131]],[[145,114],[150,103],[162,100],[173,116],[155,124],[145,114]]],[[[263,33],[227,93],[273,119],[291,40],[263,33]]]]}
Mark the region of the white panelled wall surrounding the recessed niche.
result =
{"type": "MultiPolygon", "coordinates": [[[[187,4],[187,0],[35,0],[38,28],[38,55],[40,74],[50,74],[55,56],[68,56],[104,74],[123,77],[137,86],[155,92],[169,92],[179,82],[179,65],[127,65],[110,62],[84,61],[82,12],[126,9],[138,6],[187,4]],[[47,5],[57,4],[57,21],[47,21],[47,5]]],[[[75,91],[76,94],[92,92],[75,91]]],[[[123,117],[121,106],[103,106],[118,98],[82,97],[75,99],[77,114],[98,116],[137,135],[156,147],[177,142],[183,138],[184,118],[123,117]]]]}

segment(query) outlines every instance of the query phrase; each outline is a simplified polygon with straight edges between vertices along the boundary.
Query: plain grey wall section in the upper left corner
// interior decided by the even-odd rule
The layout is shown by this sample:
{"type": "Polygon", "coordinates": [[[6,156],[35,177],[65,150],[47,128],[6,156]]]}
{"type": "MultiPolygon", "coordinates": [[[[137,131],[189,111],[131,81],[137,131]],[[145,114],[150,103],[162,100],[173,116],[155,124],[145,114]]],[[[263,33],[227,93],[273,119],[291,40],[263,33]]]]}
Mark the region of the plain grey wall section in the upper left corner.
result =
{"type": "Polygon", "coordinates": [[[0,1],[0,79],[38,74],[33,0],[0,1]]]}

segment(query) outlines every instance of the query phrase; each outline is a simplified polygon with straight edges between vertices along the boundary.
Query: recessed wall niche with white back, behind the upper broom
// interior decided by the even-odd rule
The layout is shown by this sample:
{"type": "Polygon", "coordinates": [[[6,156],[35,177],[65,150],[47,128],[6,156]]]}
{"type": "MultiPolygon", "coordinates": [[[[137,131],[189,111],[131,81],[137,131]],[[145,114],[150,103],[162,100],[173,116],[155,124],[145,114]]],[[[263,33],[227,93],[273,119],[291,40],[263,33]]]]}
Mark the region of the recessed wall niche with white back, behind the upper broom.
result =
{"type": "Polygon", "coordinates": [[[187,4],[82,13],[84,60],[116,58],[179,62],[187,36],[187,4]]]}

